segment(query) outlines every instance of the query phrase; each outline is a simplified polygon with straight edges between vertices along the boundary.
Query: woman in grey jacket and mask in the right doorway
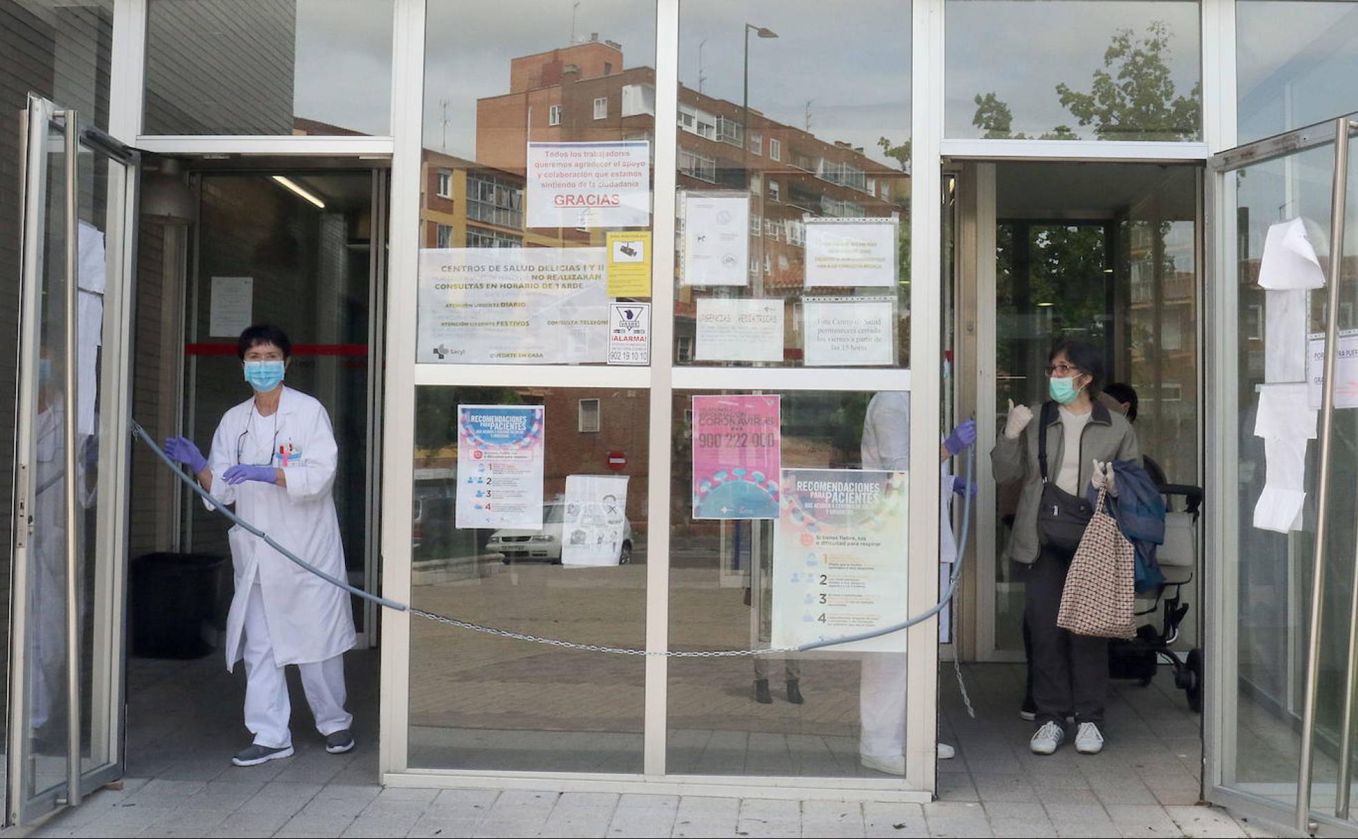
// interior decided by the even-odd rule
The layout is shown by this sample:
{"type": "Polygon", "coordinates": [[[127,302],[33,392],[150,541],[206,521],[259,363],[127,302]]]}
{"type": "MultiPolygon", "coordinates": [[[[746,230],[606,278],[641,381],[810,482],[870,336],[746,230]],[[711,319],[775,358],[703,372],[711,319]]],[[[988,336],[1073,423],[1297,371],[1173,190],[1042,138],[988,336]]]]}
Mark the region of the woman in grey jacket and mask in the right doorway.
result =
{"type": "Polygon", "coordinates": [[[1103,748],[1104,699],[1108,692],[1108,639],[1074,635],[1057,626],[1061,592],[1071,553],[1046,544],[1038,515],[1043,496],[1038,434],[1047,436],[1047,481],[1061,493],[1080,497],[1093,485],[1116,494],[1112,462],[1141,463],[1131,424],[1097,400],[1103,357],[1081,341],[1067,341],[1047,361],[1052,409],[1048,422],[1033,422],[1024,405],[1010,403],[1004,433],[990,460],[998,483],[1021,482],[1019,510],[1005,555],[1021,563],[1024,616],[1032,634],[1032,692],[1038,730],[1029,748],[1050,755],[1066,739],[1065,715],[1076,714],[1076,749],[1092,755],[1103,748]]]}

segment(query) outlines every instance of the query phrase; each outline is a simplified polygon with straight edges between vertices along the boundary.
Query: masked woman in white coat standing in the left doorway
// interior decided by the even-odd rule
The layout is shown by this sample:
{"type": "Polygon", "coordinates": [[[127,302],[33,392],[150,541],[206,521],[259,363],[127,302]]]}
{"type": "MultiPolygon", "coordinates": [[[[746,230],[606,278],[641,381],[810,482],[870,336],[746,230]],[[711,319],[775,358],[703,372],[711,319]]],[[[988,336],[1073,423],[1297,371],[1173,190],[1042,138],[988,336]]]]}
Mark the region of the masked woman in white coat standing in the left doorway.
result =
{"type": "MultiPolygon", "coordinates": [[[[253,399],[217,425],[210,460],[183,437],[166,452],[193,470],[216,498],[297,557],[345,576],[340,520],[330,490],[337,447],[330,417],[314,398],[284,387],[292,345],[282,330],[251,326],[238,356],[253,399]]],[[[353,748],[345,711],[344,653],[353,648],[349,595],[299,567],[240,525],[232,527],[235,596],[227,616],[227,669],[246,663],[246,728],[254,744],[232,758],[255,766],[292,755],[292,709],[284,667],[296,664],[326,751],[353,748]]]]}

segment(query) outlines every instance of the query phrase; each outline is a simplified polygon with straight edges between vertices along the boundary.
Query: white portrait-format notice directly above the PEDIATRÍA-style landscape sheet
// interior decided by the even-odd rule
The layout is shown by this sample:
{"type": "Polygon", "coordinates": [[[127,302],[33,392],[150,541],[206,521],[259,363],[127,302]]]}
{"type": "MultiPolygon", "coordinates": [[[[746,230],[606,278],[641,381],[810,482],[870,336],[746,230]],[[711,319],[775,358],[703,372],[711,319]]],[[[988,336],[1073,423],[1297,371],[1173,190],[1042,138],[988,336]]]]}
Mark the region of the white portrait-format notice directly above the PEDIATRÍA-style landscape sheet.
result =
{"type": "Polygon", "coordinates": [[[684,193],[683,285],[750,284],[750,195],[684,193]]]}

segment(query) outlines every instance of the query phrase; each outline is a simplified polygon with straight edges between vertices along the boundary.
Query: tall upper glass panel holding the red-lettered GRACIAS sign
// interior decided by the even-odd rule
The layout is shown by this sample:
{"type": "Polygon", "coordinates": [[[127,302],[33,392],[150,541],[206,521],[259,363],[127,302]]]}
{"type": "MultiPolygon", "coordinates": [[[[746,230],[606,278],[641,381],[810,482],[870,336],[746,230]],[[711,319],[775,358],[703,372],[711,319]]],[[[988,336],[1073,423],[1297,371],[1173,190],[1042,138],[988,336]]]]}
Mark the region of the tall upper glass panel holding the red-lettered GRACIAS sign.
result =
{"type": "Polygon", "coordinates": [[[655,3],[435,0],[425,43],[416,360],[646,364],[655,3]]]}

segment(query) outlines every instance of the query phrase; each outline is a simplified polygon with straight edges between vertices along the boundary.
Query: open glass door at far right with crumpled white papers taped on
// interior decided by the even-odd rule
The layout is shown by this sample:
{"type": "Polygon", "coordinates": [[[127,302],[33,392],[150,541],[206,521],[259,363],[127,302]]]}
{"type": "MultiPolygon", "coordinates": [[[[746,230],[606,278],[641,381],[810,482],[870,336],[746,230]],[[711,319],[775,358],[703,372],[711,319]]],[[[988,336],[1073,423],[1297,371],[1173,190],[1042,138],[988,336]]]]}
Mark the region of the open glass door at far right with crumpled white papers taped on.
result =
{"type": "Polygon", "coordinates": [[[1358,825],[1355,128],[1232,149],[1209,172],[1205,787],[1309,832],[1358,825]]]}

